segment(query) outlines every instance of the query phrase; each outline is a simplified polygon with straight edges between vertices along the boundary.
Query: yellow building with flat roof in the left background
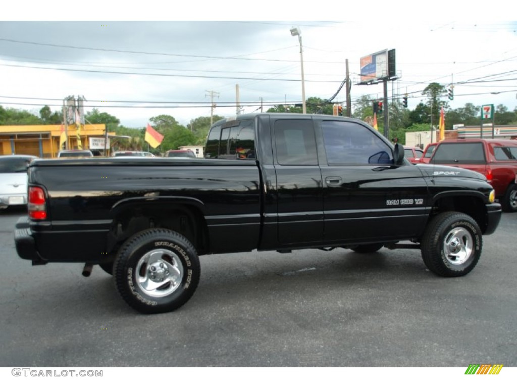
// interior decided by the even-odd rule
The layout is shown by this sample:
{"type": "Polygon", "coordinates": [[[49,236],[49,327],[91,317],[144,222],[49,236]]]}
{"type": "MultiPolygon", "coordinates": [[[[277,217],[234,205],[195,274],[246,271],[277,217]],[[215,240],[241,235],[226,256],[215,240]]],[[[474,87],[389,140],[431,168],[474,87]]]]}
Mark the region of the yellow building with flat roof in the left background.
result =
{"type": "MultiPolygon", "coordinates": [[[[59,151],[59,139],[64,126],[0,125],[0,155],[26,154],[54,158],[59,151]]],[[[105,124],[85,124],[81,128],[82,149],[87,150],[89,138],[103,138],[105,124]]],[[[68,149],[79,149],[77,127],[68,126],[68,149]]]]}

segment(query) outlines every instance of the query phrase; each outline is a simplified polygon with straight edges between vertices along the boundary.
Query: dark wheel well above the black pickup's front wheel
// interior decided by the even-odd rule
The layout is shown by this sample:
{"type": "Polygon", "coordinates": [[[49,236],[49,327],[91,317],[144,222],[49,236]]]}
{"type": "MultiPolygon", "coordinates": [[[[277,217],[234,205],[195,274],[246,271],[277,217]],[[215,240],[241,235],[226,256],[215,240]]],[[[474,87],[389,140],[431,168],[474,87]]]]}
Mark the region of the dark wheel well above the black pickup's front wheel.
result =
{"type": "Polygon", "coordinates": [[[482,233],[484,233],[488,226],[488,217],[486,215],[485,206],[480,198],[473,196],[440,198],[435,202],[431,216],[449,211],[465,213],[474,218],[482,233]]]}

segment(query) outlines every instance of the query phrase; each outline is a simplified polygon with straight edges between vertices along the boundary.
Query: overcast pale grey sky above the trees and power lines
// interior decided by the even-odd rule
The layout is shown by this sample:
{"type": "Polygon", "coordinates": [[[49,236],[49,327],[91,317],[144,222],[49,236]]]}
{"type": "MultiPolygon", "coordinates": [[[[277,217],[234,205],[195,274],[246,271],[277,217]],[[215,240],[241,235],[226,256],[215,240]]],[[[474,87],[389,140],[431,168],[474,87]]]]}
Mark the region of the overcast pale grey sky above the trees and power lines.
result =
{"type": "MultiPolygon", "coordinates": [[[[47,11],[56,9],[51,3],[45,2],[47,11]]],[[[420,17],[399,12],[397,17],[379,18],[377,13],[371,20],[357,5],[336,5],[326,10],[327,19],[342,14],[348,21],[322,21],[321,12],[310,10],[302,16],[282,7],[275,8],[276,13],[264,12],[268,5],[275,7],[273,2],[228,2],[212,18],[226,21],[209,20],[209,12],[197,18],[191,7],[186,20],[208,19],[192,22],[111,21],[120,19],[118,10],[96,12],[99,3],[84,3],[81,15],[109,20],[66,21],[74,14],[69,9],[49,18],[60,20],[37,21],[45,18],[33,8],[28,13],[14,10],[10,21],[0,22],[0,105],[35,113],[49,105],[54,111],[65,97],[81,95],[87,111],[95,107],[125,126],[144,127],[159,114],[184,125],[209,116],[211,98],[215,114],[235,115],[237,84],[244,113],[260,111],[261,101],[264,111],[279,103],[301,102],[299,41],[290,34],[298,27],[307,98],[334,95],[345,79],[346,59],[352,106],[363,95],[381,98],[382,84],[356,85],[359,59],[395,49],[400,78],[388,84],[389,98],[408,93],[410,109],[424,99],[421,91],[431,82],[454,83],[452,109],[467,102],[503,104],[510,110],[517,106],[517,22],[481,21],[486,15],[476,4],[471,4],[473,15],[466,17],[444,12],[437,18],[440,11],[433,8],[429,13],[420,9],[420,17]],[[262,11],[253,13],[259,5],[262,11]],[[320,21],[307,20],[312,14],[320,21]],[[279,16],[297,20],[277,20],[279,16]]],[[[131,3],[124,4],[131,8],[131,3]]],[[[170,8],[179,3],[168,4],[154,13],[130,9],[127,19],[181,19],[170,8]]],[[[375,7],[375,2],[368,4],[375,7]]],[[[345,101],[344,90],[335,101],[345,101]]]]}

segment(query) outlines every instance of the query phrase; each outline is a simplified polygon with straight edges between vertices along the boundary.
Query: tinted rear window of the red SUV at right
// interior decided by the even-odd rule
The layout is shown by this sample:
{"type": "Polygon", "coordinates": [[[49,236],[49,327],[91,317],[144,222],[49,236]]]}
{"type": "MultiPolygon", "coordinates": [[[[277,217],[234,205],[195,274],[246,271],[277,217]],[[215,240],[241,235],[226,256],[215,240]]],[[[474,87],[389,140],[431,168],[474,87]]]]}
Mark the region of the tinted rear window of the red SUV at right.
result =
{"type": "Polygon", "coordinates": [[[441,143],[436,146],[432,163],[484,164],[482,143],[441,143]]]}

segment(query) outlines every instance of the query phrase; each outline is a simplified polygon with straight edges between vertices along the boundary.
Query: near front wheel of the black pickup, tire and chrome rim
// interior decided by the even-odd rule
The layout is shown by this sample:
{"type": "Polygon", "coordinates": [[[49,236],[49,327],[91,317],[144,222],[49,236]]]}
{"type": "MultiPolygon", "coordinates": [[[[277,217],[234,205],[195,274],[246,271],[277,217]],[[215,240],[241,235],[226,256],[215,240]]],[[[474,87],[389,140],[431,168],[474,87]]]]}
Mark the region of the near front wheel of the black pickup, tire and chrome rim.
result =
{"type": "Polygon", "coordinates": [[[422,259],[437,275],[463,276],[478,263],[482,245],[481,230],[472,217],[457,212],[441,213],[424,232],[422,259]]]}

